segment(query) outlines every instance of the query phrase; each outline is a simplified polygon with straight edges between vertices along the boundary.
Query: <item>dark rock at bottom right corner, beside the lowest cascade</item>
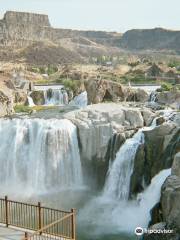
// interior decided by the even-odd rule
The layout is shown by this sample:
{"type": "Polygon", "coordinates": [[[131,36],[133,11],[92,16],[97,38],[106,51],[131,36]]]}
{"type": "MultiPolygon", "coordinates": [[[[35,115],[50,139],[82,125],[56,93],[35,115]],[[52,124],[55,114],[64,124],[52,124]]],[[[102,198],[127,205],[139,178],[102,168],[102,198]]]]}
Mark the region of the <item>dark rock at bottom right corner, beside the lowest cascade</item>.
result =
{"type": "MultiPolygon", "coordinates": [[[[161,201],[156,208],[156,214],[152,215],[152,229],[162,225],[163,229],[173,230],[172,234],[151,234],[144,237],[145,240],[178,240],[180,239],[180,152],[174,157],[172,173],[161,189],[161,201]],[[160,216],[161,215],[161,216],[160,216]],[[159,222],[160,220],[161,222],[159,222]]],[[[155,208],[154,208],[155,209],[155,208]]],[[[153,210],[153,212],[155,212],[153,210]]]]}

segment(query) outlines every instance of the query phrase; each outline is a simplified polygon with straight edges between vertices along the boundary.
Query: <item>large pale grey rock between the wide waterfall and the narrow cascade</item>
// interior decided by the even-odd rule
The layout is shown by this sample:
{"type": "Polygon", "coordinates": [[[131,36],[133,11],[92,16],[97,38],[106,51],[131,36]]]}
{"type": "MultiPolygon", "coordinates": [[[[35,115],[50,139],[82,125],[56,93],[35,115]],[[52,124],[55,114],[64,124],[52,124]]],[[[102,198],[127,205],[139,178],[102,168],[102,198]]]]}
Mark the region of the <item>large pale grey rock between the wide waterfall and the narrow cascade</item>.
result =
{"type": "Polygon", "coordinates": [[[93,179],[97,179],[101,187],[107,174],[109,157],[114,158],[126,138],[144,126],[140,108],[115,103],[91,105],[64,117],[78,128],[82,163],[88,171],[84,175],[95,176],[93,179]],[[112,149],[113,142],[116,144],[112,149]]]}

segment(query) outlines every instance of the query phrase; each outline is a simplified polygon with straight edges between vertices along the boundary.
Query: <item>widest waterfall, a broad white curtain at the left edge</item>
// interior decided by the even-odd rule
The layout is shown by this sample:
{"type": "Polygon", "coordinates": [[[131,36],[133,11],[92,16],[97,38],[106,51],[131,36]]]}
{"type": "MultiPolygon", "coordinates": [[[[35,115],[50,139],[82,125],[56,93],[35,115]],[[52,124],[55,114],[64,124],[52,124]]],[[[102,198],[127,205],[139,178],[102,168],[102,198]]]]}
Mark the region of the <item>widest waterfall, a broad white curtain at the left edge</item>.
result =
{"type": "Polygon", "coordinates": [[[23,193],[82,186],[76,127],[69,120],[1,119],[0,188],[23,193]]]}

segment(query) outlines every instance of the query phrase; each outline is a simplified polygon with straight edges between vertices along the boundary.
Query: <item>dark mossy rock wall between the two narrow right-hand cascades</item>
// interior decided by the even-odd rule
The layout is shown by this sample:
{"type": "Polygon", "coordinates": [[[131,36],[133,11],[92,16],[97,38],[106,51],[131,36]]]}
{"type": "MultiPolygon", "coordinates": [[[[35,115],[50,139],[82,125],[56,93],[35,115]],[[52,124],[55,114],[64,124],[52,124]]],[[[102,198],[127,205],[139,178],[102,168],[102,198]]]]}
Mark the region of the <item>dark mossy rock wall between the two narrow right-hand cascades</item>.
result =
{"type": "Polygon", "coordinates": [[[171,168],[180,149],[179,113],[169,122],[144,131],[145,143],[139,146],[131,177],[130,197],[141,192],[161,170],[171,168]]]}

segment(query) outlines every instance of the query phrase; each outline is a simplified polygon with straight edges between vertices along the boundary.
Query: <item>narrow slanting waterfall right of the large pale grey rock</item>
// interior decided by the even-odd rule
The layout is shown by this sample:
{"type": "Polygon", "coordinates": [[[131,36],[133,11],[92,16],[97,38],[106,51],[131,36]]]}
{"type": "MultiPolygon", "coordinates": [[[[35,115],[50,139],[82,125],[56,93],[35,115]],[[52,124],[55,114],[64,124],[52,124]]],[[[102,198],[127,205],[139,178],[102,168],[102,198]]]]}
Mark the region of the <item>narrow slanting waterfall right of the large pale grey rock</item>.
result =
{"type": "Polygon", "coordinates": [[[128,200],[130,179],[133,173],[134,158],[144,134],[139,130],[133,138],[126,140],[116,155],[105,183],[104,195],[114,199],[128,200]]]}

